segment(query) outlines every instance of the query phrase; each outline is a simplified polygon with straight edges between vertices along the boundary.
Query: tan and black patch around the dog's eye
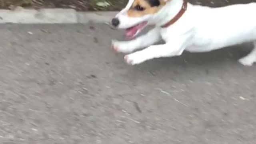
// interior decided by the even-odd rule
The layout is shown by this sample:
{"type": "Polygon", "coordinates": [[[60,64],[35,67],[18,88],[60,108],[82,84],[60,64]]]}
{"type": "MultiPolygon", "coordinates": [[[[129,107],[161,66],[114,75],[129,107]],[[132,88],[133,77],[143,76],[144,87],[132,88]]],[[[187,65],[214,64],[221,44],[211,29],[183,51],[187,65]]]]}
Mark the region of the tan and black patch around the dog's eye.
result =
{"type": "Polygon", "coordinates": [[[134,0],[127,15],[129,17],[142,17],[147,14],[155,14],[165,4],[164,0],[134,0]]]}

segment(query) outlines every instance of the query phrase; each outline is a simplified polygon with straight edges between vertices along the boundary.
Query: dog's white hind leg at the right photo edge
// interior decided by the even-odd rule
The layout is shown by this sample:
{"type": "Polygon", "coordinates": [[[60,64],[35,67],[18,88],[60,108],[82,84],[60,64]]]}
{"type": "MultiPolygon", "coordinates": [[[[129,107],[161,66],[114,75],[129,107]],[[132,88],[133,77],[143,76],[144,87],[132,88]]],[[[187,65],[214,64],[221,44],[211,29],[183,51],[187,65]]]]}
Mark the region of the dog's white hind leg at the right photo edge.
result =
{"type": "Polygon", "coordinates": [[[252,64],[256,62],[256,41],[254,41],[253,44],[254,48],[252,51],[247,56],[238,60],[244,66],[252,66],[252,64]]]}

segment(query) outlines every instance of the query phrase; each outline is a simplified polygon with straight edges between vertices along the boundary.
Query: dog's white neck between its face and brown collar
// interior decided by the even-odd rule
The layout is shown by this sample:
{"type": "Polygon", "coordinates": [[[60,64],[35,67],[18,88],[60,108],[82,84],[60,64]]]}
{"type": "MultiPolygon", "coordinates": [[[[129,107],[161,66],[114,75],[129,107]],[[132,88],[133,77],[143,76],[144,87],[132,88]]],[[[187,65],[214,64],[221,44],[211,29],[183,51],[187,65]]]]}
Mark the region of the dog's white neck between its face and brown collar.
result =
{"type": "Polygon", "coordinates": [[[170,0],[166,5],[154,16],[153,20],[156,26],[163,26],[172,20],[182,9],[183,0],[170,0]]]}

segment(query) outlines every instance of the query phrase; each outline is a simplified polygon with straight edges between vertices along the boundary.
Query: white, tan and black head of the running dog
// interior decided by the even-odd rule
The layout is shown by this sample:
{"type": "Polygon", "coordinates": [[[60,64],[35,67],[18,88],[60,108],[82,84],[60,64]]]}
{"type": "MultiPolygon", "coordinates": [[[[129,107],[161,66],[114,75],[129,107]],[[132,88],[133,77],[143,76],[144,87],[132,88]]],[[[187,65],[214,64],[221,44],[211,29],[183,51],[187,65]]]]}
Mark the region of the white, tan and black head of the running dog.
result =
{"type": "Polygon", "coordinates": [[[126,30],[126,37],[133,38],[149,24],[154,24],[154,15],[168,0],[129,0],[126,7],[112,19],[112,25],[126,30]]]}

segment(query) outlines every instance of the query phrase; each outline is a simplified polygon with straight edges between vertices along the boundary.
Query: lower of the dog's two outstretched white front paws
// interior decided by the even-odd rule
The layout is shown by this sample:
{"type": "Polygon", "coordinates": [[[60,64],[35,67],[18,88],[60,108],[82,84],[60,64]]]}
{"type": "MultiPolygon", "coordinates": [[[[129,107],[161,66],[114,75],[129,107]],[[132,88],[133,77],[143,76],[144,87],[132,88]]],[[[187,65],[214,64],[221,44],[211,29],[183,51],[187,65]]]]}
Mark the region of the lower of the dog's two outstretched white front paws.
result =
{"type": "Polygon", "coordinates": [[[139,52],[135,52],[124,56],[124,61],[130,65],[141,64],[145,60],[146,59],[143,56],[141,56],[139,52]]]}

